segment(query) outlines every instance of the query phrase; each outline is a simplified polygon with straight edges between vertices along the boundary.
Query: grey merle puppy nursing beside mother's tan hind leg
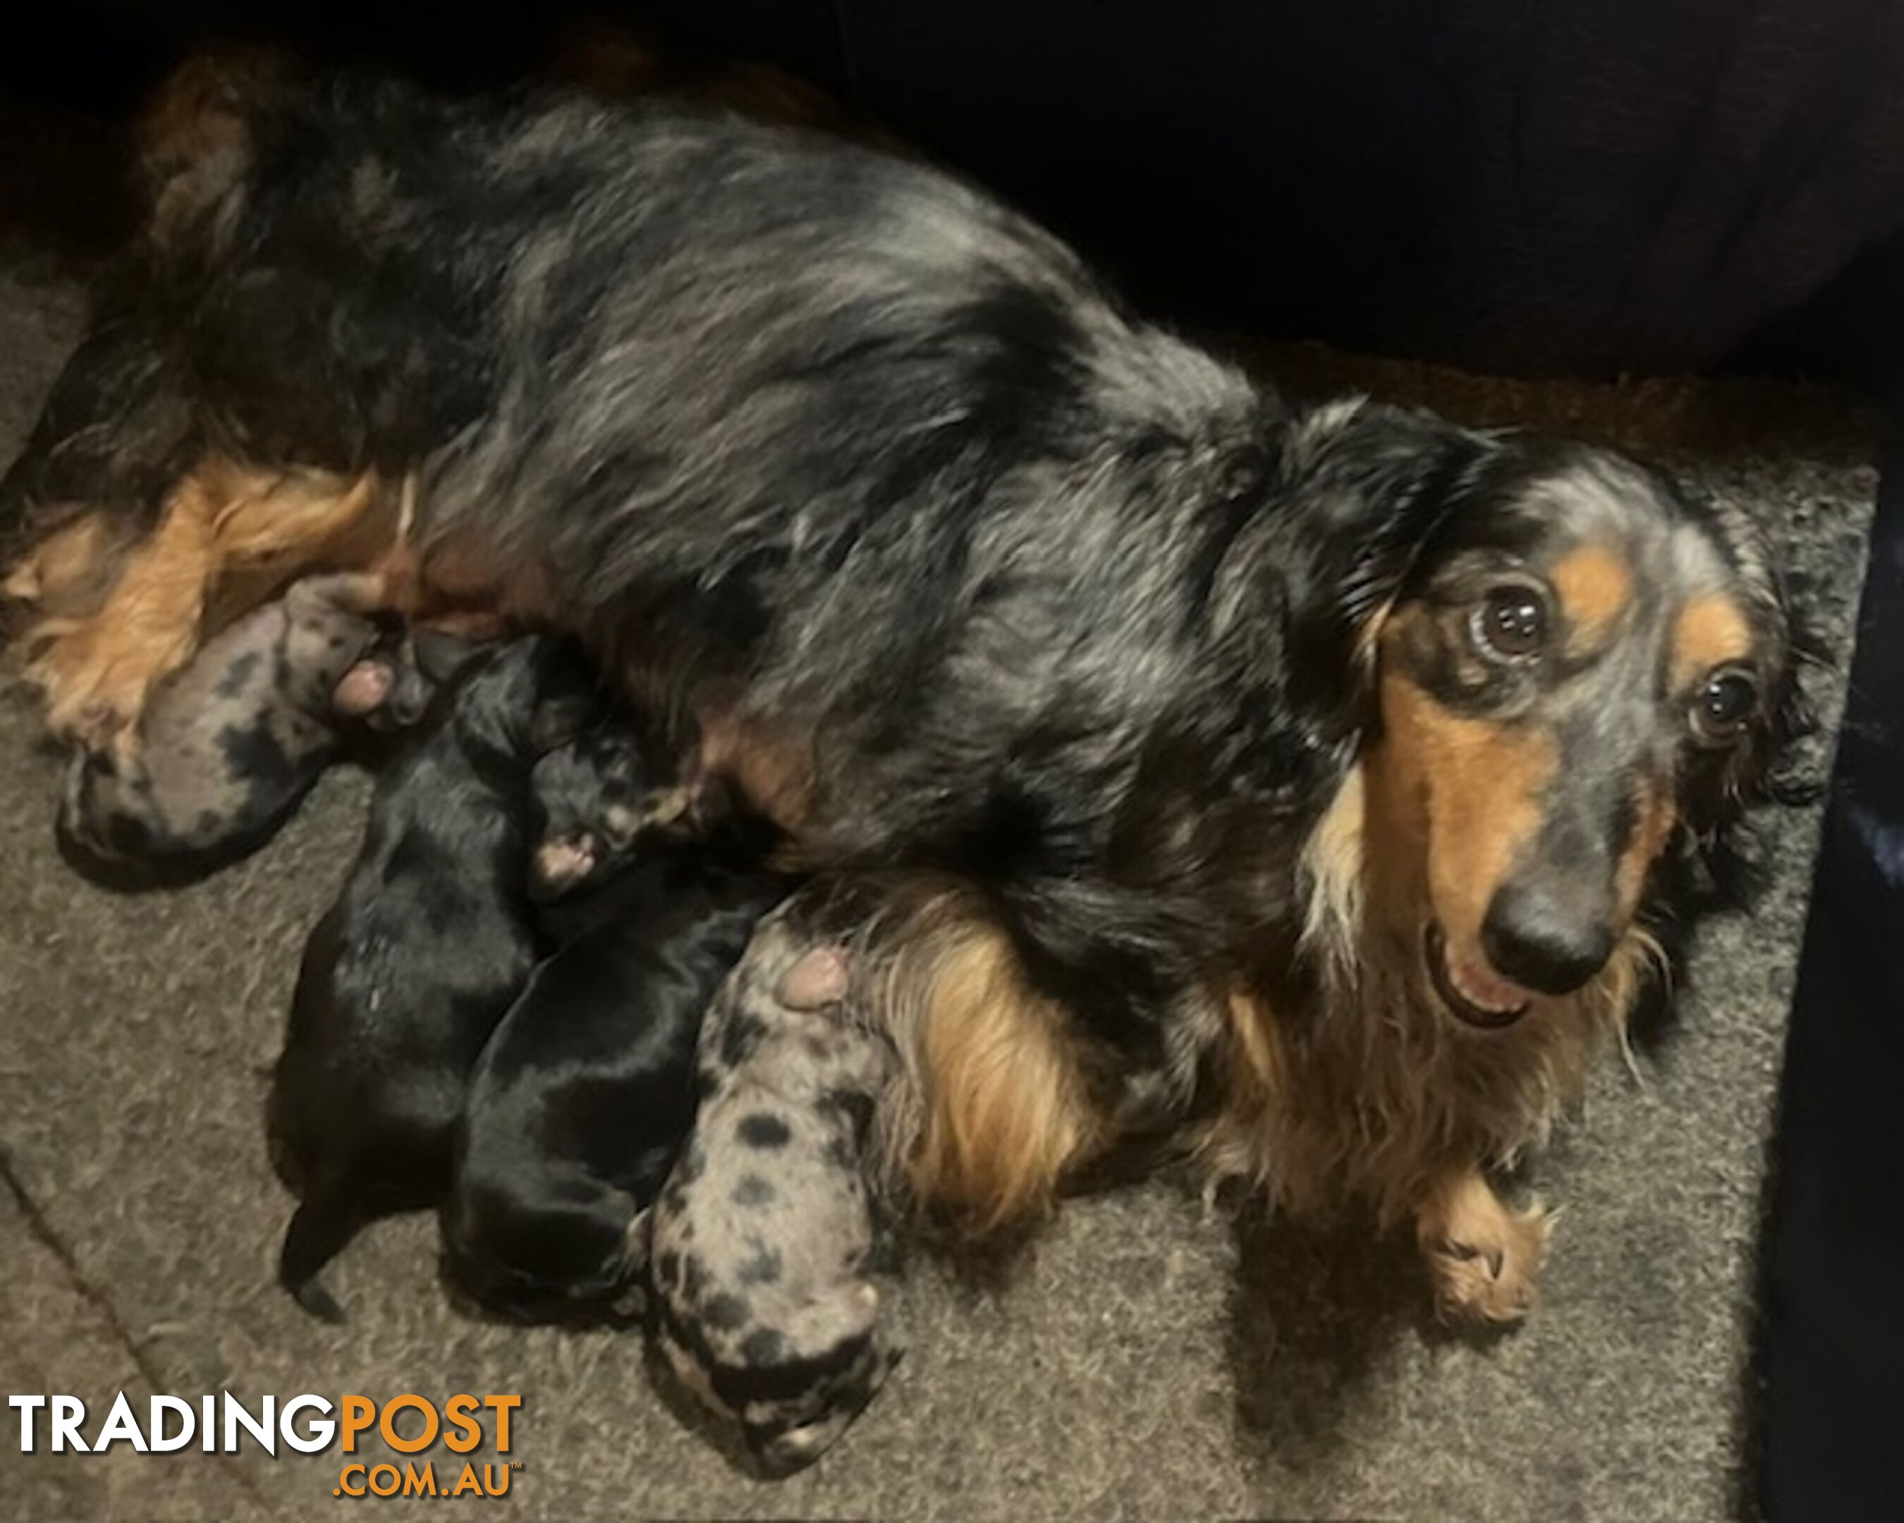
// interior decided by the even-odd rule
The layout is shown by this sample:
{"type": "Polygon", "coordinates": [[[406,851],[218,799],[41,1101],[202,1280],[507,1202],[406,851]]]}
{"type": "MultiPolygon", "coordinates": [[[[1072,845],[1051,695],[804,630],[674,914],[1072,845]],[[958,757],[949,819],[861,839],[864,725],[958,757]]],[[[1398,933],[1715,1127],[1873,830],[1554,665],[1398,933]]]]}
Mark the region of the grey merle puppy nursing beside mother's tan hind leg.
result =
{"type": "Polygon", "coordinates": [[[206,643],[131,758],[72,758],[59,836],[109,864],[215,864],[263,845],[335,760],[341,725],[415,723],[428,697],[373,617],[375,575],[307,577],[206,643]]]}

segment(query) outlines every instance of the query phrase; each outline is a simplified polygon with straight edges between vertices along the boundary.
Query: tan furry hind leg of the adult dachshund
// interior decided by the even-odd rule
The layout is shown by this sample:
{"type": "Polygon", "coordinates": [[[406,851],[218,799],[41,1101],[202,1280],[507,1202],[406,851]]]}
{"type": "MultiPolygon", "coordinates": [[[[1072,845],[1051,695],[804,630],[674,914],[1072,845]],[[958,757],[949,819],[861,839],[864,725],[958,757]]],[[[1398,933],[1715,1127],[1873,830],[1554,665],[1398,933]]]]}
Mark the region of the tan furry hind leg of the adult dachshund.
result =
{"type": "MultiPolygon", "coordinates": [[[[185,478],[97,613],[46,619],[27,632],[27,680],[46,695],[48,727],[129,752],[152,687],[198,647],[219,577],[234,567],[268,567],[278,583],[297,577],[373,503],[369,478],[341,484],[217,468],[185,478]]],[[[259,600],[270,596],[268,583],[259,586],[259,600]]]]}

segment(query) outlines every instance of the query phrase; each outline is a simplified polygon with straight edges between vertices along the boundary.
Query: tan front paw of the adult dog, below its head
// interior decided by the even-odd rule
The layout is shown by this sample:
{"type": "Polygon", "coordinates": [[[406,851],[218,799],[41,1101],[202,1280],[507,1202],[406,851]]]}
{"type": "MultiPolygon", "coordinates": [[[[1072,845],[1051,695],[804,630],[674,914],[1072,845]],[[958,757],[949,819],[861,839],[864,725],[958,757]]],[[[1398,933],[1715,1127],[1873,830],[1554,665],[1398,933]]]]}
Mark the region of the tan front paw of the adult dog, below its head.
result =
{"type": "Polygon", "coordinates": [[[1436,1308],[1449,1321],[1525,1317],[1535,1304],[1552,1230],[1554,1218],[1538,1203],[1508,1211],[1479,1169],[1445,1175],[1415,1218],[1436,1308]]]}

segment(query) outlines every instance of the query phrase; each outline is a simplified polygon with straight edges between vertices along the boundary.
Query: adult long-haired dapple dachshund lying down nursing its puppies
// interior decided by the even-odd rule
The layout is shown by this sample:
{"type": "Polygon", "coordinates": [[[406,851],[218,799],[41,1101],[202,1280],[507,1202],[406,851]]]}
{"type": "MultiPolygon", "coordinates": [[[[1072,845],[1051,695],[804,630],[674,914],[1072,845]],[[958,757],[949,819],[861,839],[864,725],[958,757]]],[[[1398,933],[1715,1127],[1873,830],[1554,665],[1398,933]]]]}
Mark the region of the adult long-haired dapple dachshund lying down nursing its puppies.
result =
{"type": "Polygon", "coordinates": [[[1742,512],[1293,411],[971,187],[722,114],[200,67],[147,162],[160,354],[36,449],[126,426],[164,487],[21,487],[15,590],[103,588],[32,645],[55,725],[124,729],[208,590],[413,480],[425,586],[585,634],[817,891],[882,897],[920,1199],[992,1226],[1165,1125],[1525,1310],[1546,1226],[1483,1169],[1794,701],[1742,512]]]}

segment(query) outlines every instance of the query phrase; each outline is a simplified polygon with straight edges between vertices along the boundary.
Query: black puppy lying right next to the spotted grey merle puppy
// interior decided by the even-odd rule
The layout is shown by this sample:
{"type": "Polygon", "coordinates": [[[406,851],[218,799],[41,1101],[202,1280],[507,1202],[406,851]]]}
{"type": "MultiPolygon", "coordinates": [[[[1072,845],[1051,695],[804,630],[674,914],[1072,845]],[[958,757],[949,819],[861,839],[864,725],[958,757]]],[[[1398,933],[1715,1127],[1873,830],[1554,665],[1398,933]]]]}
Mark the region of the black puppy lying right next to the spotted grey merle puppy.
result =
{"type": "MultiPolygon", "coordinates": [[[[573,750],[546,758],[537,784],[573,750]]],[[[581,773],[562,771],[579,801],[581,773]]],[[[617,769],[598,796],[630,779],[617,769]]],[[[653,834],[651,847],[640,836],[623,847],[638,860],[621,878],[560,906],[565,944],[535,969],[470,1079],[446,1268],[522,1321],[640,1310],[642,1213],[693,1127],[703,1015],[754,923],[792,887],[765,868],[764,830],[653,834]]]]}

